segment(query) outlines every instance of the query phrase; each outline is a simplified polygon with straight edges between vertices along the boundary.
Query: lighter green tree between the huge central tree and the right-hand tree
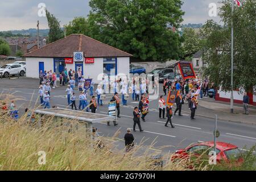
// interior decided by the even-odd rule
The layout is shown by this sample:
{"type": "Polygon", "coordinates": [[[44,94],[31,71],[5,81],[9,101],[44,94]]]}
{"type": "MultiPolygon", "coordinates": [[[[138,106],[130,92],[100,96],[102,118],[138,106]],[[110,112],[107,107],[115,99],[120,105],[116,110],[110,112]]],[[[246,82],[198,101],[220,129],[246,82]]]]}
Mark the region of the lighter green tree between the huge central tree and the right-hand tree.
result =
{"type": "Polygon", "coordinates": [[[199,34],[193,28],[184,28],[183,39],[183,59],[192,60],[193,55],[201,49],[199,34]]]}

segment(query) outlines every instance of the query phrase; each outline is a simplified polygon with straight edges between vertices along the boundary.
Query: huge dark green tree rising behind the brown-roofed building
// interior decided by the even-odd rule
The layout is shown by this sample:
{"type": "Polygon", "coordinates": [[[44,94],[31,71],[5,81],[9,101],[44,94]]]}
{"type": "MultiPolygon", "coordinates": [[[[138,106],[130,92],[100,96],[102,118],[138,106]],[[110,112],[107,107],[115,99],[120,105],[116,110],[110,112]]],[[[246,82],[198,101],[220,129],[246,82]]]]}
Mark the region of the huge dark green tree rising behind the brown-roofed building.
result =
{"type": "Polygon", "coordinates": [[[179,58],[179,34],[168,27],[183,20],[180,0],[91,0],[89,5],[93,38],[141,60],[179,58]]]}

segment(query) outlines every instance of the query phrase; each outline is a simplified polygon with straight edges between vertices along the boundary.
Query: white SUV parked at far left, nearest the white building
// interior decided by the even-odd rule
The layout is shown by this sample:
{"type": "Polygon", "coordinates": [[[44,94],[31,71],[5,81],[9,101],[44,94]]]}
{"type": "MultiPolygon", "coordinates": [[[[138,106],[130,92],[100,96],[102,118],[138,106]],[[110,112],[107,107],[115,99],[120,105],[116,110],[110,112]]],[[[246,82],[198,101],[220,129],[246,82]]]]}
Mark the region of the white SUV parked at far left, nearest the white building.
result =
{"type": "Polygon", "coordinates": [[[0,76],[9,77],[9,75],[20,75],[24,76],[26,68],[20,64],[6,64],[0,68],[0,76]]]}

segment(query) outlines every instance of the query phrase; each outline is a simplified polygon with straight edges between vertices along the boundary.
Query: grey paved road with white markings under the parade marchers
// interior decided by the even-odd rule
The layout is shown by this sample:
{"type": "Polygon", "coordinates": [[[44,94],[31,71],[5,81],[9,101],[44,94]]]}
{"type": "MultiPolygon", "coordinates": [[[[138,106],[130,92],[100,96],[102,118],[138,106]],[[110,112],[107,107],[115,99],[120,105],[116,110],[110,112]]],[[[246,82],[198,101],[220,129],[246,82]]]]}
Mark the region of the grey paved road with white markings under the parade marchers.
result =
{"type": "MultiPolygon", "coordinates": [[[[12,93],[14,96],[23,97],[24,101],[17,101],[20,110],[24,110],[28,105],[34,107],[35,101],[38,98],[38,89],[24,88],[0,88],[0,93],[12,93]],[[35,92],[35,93],[34,93],[35,92]],[[34,93],[34,96],[32,94],[34,93]],[[30,101],[31,100],[31,101],[30,101]]],[[[78,95],[78,92],[76,91],[78,95]]],[[[107,95],[105,101],[109,101],[113,94],[107,95]]],[[[146,122],[142,123],[143,133],[137,131],[134,133],[135,141],[142,142],[144,145],[154,143],[154,148],[161,151],[175,151],[179,148],[188,146],[191,143],[199,141],[213,140],[214,119],[204,117],[196,117],[191,121],[188,114],[183,113],[182,117],[175,115],[172,119],[175,128],[164,127],[165,119],[159,119],[158,101],[150,101],[150,113],[146,116],[146,122]],[[166,147],[163,147],[166,146],[166,147]]],[[[78,102],[77,102],[78,104],[78,102]]],[[[53,89],[51,92],[51,106],[67,107],[67,99],[65,98],[64,90],[53,89]]],[[[118,126],[106,126],[106,123],[97,123],[94,127],[98,128],[101,135],[112,137],[117,130],[121,131],[119,138],[123,138],[127,127],[133,127],[132,112],[134,106],[138,106],[138,102],[133,102],[131,99],[127,102],[127,106],[121,106],[121,118],[119,118],[118,126]]],[[[183,105],[187,107],[187,105],[183,105]]],[[[198,110],[197,110],[198,111],[198,110]]],[[[97,113],[106,114],[107,105],[100,106],[97,113]]],[[[218,141],[229,142],[236,144],[238,147],[249,148],[256,143],[256,126],[243,125],[240,123],[218,121],[218,130],[220,137],[218,141]]],[[[119,141],[123,147],[122,140],[119,141]]]]}

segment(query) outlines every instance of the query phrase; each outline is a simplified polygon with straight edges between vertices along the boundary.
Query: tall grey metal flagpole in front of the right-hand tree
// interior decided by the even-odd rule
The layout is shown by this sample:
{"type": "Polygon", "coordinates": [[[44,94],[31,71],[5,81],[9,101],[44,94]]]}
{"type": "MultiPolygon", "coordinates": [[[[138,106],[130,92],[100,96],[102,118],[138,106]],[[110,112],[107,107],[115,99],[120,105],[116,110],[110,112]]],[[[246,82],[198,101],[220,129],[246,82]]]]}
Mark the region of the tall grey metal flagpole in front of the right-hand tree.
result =
{"type": "Polygon", "coordinates": [[[231,19],[231,94],[230,94],[230,113],[234,113],[234,98],[233,98],[233,59],[234,59],[234,27],[233,27],[233,11],[234,1],[232,0],[232,19],[231,19]]]}

